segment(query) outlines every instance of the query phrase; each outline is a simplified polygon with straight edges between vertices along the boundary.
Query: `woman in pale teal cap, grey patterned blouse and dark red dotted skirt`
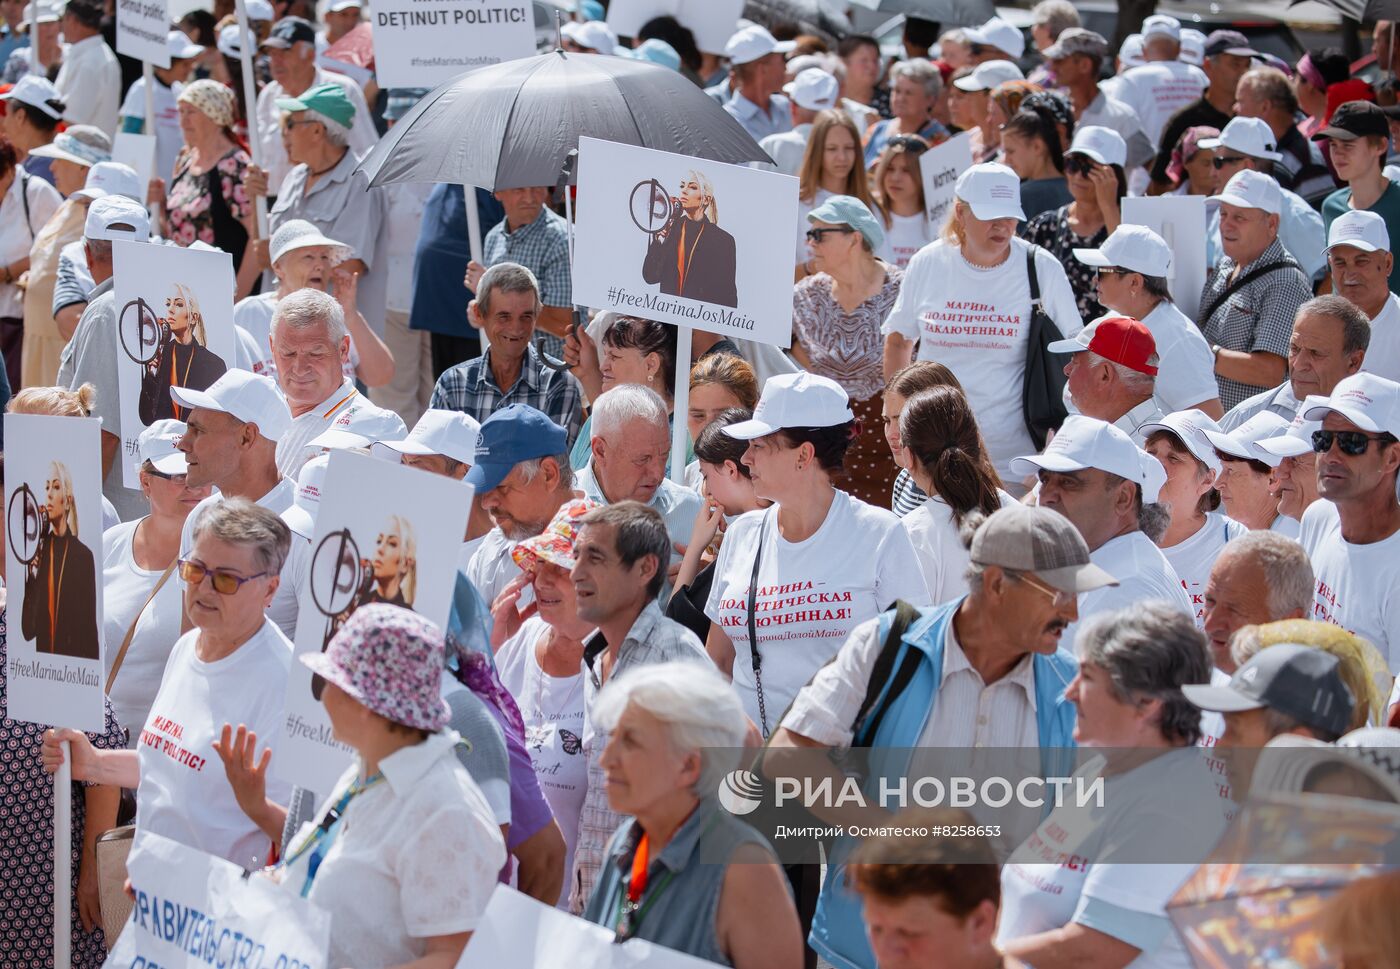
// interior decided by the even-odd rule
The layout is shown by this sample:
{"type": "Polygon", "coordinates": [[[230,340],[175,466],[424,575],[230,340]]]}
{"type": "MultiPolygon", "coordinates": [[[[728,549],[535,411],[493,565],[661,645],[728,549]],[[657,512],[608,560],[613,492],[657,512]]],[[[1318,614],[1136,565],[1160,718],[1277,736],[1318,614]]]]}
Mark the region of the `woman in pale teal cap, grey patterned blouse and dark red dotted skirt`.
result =
{"type": "Polygon", "coordinates": [[[875,253],[885,230],[860,199],[837,195],[806,217],[808,265],[816,267],[792,294],[792,357],[846,391],[860,437],[846,455],[851,496],[883,504],[899,470],[879,431],[883,346],[879,328],[904,277],[875,253]]]}

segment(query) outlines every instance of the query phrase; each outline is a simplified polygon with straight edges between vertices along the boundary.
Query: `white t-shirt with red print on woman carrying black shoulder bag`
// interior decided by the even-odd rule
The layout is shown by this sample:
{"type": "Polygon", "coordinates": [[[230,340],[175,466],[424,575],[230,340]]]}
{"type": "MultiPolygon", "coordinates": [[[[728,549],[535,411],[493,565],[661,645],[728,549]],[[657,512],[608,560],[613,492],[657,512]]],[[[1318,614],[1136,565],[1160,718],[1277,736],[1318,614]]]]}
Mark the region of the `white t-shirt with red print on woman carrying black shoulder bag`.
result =
{"type": "MultiPolygon", "coordinates": [[[[967,392],[993,466],[1014,480],[1011,459],[1035,454],[1021,412],[1030,325],[1029,242],[1012,239],[1011,255],[993,269],[977,269],[944,241],[924,246],[904,270],[904,281],[881,332],[918,340],[918,360],[946,365],[967,392]]],[[[1036,279],[1050,319],[1070,337],[1084,329],[1064,266],[1036,253],[1036,279]]]]}

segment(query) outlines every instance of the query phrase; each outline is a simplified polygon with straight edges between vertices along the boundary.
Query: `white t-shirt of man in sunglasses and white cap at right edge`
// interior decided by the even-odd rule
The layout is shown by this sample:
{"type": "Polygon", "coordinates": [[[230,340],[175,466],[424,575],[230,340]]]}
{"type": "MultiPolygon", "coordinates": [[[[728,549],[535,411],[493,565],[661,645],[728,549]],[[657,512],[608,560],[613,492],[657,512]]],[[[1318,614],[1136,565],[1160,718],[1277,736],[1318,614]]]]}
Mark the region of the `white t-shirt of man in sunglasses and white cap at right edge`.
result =
{"type": "Polygon", "coordinates": [[[1298,542],[1313,566],[1313,613],[1380,650],[1400,672],[1400,532],[1371,545],[1341,536],[1337,506],[1326,499],[1303,513],[1298,542]]]}

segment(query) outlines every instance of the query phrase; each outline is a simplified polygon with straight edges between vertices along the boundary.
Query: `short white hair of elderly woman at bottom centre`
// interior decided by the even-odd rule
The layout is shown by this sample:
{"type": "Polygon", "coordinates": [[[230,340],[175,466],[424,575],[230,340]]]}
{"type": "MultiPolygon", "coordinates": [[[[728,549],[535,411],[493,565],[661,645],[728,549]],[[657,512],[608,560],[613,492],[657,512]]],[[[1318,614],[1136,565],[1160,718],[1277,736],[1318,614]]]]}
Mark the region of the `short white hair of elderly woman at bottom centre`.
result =
{"type": "Polygon", "coordinates": [[[665,725],[675,753],[700,755],[700,776],[690,793],[713,797],[720,781],[739,763],[746,718],[734,688],[707,664],[658,662],[615,676],[598,695],[594,720],[616,730],[627,707],[665,725]]]}

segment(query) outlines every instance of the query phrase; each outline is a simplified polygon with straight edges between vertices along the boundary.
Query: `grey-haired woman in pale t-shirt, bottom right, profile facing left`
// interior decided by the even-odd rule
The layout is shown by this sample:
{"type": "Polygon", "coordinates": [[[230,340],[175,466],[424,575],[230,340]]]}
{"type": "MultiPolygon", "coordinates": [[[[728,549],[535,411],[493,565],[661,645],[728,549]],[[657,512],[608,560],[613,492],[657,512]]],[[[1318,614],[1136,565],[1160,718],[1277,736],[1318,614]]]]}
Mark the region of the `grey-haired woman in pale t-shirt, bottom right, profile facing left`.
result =
{"type": "Polygon", "coordinates": [[[1102,748],[1075,776],[1103,783],[1105,807],[1063,804],[1012,853],[997,942],[1037,966],[1186,965],[1166,902],[1225,830],[1226,802],[1194,746],[1200,710],[1182,692],[1210,682],[1205,640],[1190,616],[1149,601],[1086,619],[1075,648],[1074,738],[1102,748]],[[1148,843],[1162,864],[1131,864],[1148,843]],[[1061,864],[1057,846],[1084,863],[1061,864]]]}

